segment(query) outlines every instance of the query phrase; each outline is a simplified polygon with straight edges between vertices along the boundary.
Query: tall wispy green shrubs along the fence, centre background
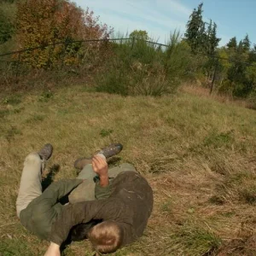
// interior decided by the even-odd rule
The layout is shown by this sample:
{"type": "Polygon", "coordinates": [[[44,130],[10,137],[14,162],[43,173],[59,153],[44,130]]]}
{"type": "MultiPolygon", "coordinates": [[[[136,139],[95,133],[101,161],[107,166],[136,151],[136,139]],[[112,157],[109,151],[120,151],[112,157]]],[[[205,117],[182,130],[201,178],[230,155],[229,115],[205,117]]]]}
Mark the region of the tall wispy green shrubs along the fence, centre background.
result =
{"type": "MultiPolygon", "coordinates": [[[[119,35],[120,36],[120,35],[119,35]]],[[[186,78],[189,48],[173,32],[167,46],[140,39],[113,44],[105,73],[98,73],[96,90],[120,95],[161,96],[173,93],[186,78]]]]}

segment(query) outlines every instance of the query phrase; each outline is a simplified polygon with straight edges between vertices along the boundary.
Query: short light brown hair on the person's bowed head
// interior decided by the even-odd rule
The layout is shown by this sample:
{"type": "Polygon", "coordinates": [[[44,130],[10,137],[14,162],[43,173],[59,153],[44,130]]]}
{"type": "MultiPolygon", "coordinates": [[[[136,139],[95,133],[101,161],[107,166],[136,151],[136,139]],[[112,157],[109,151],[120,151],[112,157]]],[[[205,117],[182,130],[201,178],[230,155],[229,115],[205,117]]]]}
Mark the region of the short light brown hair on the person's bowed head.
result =
{"type": "Polygon", "coordinates": [[[114,253],[122,244],[123,230],[113,221],[104,221],[96,224],[88,237],[97,252],[114,253]]]}

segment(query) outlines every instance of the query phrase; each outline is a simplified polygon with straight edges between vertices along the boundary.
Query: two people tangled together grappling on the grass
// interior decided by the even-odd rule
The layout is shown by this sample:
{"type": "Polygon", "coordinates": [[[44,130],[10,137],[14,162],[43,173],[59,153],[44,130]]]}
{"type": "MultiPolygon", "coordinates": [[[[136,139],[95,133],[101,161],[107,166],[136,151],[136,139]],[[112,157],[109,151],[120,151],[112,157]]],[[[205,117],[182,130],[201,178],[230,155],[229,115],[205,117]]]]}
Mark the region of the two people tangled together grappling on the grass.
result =
{"type": "Polygon", "coordinates": [[[120,144],[113,144],[93,159],[77,160],[75,166],[82,169],[78,178],[52,183],[43,193],[41,173],[52,146],[26,157],[17,214],[27,230],[51,241],[45,255],[61,255],[70,230],[75,240],[88,237],[99,253],[112,253],[143,235],[153,207],[152,189],[130,164],[108,172],[106,157],[120,150],[120,144]],[[72,204],[62,206],[61,197],[72,190],[72,204]]]}

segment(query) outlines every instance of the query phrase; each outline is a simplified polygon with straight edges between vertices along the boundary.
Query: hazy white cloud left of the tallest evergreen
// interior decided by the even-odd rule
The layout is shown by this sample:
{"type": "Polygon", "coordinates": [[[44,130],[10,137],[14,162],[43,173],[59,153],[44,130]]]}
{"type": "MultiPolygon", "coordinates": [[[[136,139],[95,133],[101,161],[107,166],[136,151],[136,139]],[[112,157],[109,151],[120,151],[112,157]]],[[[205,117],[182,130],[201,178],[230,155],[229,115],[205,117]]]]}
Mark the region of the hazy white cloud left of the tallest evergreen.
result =
{"type": "Polygon", "coordinates": [[[87,6],[100,15],[103,23],[115,31],[146,30],[148,35],[165,43],[171,31],[184,32],[192,10],[177,0],[75,0],[82,8],[87,6]]]}

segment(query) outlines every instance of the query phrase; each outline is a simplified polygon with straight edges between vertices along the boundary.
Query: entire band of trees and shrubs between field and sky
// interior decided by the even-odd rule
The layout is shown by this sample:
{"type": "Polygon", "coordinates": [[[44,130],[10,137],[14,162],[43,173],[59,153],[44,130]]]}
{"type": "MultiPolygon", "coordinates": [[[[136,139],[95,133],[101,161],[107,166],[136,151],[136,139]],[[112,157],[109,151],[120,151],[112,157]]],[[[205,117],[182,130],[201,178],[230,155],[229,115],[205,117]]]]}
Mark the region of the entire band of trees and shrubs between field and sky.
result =
{"type": "Polygon", "coordinates": [[[0,67],[0,83],[12,86],[14,73],[18,80],[18,74],[43,70],[53,71],[52,76],[65,81],[67,76],[80,80],[90,77],[96,90],[161,95],[175,91],[183,81],[210,87],[214,77],[216,92],[253,98],[256,47],[248,35],[240,42],[231,38],[229,44],[218,47],[218,27],[212,20],[204,21],[202,13],[201,3],[189,16],[183,38],[173,32],[166,47],[146,43],[153,39],[145,31],[131,32],[128,41],[84,44],[73,41],[113,37],[113,29],[102,24],[90,9],[80,9],[66,0],[5,0],[0,4],[1,52],[39,49],[12,55],[9,67],[0,67]]]}

